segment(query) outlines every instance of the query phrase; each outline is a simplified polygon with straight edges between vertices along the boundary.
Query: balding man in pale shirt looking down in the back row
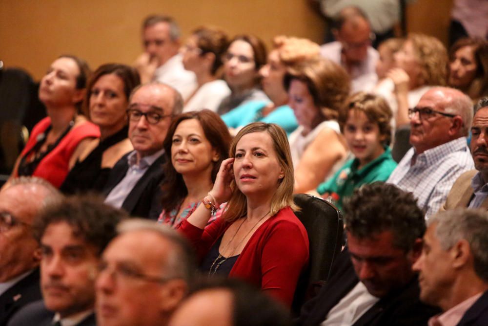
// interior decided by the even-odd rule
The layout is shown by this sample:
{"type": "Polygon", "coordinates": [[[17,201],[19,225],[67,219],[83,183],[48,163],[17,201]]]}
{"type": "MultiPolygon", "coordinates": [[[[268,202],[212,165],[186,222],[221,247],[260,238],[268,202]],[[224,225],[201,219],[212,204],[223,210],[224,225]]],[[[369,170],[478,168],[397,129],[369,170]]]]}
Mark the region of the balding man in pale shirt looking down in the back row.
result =
{"type": "Polygon", "coordinates": [[[336,42],[321,46],[323,57],[342,65],[351,76],[352,92],[370,91],[378,82],[379,54],[371,47],[371,27],[366,14],[357,7],[346,7],[334,24],[336,42]]]}

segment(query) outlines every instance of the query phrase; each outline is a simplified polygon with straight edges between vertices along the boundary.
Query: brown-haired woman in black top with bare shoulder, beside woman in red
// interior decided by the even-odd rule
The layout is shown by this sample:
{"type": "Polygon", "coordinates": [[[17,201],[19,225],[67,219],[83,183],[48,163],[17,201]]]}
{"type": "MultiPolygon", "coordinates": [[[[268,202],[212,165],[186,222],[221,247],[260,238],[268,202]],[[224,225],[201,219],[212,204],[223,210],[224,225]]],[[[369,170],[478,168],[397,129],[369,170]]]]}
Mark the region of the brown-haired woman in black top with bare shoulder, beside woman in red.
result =
{"type": "Polygon", "coordinates": [[[106,64],[95,71],[84,104],[90,120],[100,128],[100,139],[93,140],[81,153],[61,185],[63,193],[102,191],[114,164],[132,150],[125,110],[132,89],[139,83],[139,74],[127,65],[106,64]]]}

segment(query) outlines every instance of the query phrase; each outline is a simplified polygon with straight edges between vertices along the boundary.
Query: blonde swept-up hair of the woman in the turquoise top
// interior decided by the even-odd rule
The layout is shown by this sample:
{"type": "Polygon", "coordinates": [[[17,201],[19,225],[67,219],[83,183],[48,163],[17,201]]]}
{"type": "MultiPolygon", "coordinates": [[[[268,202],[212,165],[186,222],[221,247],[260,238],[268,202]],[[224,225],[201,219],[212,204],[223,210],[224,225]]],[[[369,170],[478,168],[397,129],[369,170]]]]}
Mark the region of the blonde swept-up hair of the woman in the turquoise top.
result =
{"type": "Polygon", "coordinates": [[[273,39],[273,47],[278,50],[280,61],[286,67],[320,58],[319,44],[308,39],[280,35],[273,39]]]}

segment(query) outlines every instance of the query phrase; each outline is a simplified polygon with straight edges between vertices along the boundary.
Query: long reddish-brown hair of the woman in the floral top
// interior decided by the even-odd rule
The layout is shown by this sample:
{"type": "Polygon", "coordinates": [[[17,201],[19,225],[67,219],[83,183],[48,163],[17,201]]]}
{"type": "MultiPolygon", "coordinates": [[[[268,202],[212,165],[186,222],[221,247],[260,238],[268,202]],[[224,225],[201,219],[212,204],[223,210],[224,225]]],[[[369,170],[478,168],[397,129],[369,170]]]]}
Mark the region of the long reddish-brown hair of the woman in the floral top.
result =
{"type": "Polygon", "coordinates": [[[220,165],[228,156],[229,144],[231,136],[227,126],[220,116],[208,109],[201,111],[190,111],[177,115],[171,122],[166,138],[164,139],[163,148],[166,162],[163,165],[164,183],[162,185],[163,198],[161,202],[163,209],[171,211],[181,204],[184,197],[188,195],[188,190],[183,181],[183,176],[176,172],[173,163],[171,162],[171,145],[173,143],[173,135],[178,125],[188,119],[196,119],[202,126],[205,138],[210,142],[210,145],[219,153],[219,159],[214,163],[212,168],[211,179],[215,182],[215,177],[219,172],[220,165]]]}

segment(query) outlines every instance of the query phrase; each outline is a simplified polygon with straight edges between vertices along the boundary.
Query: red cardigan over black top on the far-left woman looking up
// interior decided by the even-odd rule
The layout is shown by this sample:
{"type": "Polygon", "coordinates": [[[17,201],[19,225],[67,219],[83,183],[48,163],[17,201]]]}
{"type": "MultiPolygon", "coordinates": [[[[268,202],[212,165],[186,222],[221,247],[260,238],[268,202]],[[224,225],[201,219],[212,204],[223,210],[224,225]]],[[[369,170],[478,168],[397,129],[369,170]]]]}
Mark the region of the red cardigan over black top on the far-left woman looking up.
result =
{"type": "MultiPolygon", "coordinates": [[[[27,144],[25,144],[25,148],[20,153],[20,156],[25,155],[25,153],[36,145],[38,135],[44,132],[50,125],[51,118],[47,117],[34,126],[31,136],[29,137],[27,144]]],[[[98,126],[87,121],[73,127],[63,137],[58,146],[53,148],[53,150],[39,162],[39,165],[32,175],[46,179],[51,182],[53,186],[59,188],[69,172],[69,160],[71,155],[80,142],[87,137],[99,138],[100,130],[98,126]]]]}

